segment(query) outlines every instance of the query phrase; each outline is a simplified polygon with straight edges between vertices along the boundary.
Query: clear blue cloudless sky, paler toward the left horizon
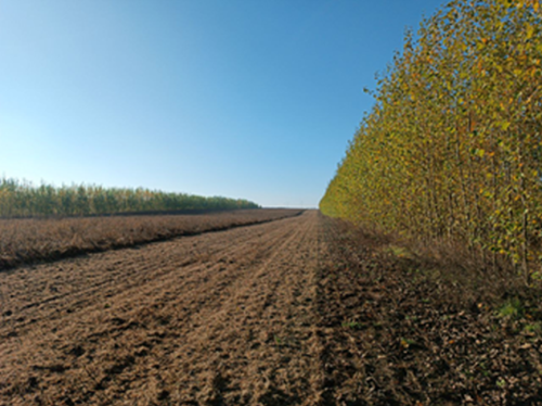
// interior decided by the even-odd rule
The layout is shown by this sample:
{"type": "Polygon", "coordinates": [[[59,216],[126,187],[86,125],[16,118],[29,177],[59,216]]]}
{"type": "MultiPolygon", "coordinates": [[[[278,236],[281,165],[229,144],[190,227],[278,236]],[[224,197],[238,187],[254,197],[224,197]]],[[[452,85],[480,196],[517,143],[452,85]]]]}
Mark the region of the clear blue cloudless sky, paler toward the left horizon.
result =
{"type": "Polygon", "coordinates": [[[440,0],[1,0],[0,176],[315,207],[440,0]]]}

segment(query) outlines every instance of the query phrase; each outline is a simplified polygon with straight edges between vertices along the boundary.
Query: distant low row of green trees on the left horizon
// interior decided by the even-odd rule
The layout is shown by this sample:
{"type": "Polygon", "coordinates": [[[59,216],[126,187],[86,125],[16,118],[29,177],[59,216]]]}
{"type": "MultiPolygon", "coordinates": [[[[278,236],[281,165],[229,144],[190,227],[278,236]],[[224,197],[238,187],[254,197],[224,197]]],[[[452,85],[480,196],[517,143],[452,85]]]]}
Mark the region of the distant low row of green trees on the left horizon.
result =
{"type": "Polygon", "coordinates": [[[0,179],[0,217],[89,216],[138,212],[258,208],[256,203],[221,196],[204,198],[143,188],[54,187],[0,179]]]}

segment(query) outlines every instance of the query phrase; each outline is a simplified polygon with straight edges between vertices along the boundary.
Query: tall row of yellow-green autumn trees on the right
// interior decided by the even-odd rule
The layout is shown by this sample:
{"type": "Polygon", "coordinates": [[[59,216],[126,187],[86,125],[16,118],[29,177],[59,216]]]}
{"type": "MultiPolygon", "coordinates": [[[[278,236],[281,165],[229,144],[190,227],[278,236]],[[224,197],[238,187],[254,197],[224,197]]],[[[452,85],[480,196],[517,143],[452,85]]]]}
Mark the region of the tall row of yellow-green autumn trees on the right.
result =
{"type": "Polygon", "coordinates": [[[406,35],[320,202],[542,278],[542,7],[455,0],[406,35]]]}

